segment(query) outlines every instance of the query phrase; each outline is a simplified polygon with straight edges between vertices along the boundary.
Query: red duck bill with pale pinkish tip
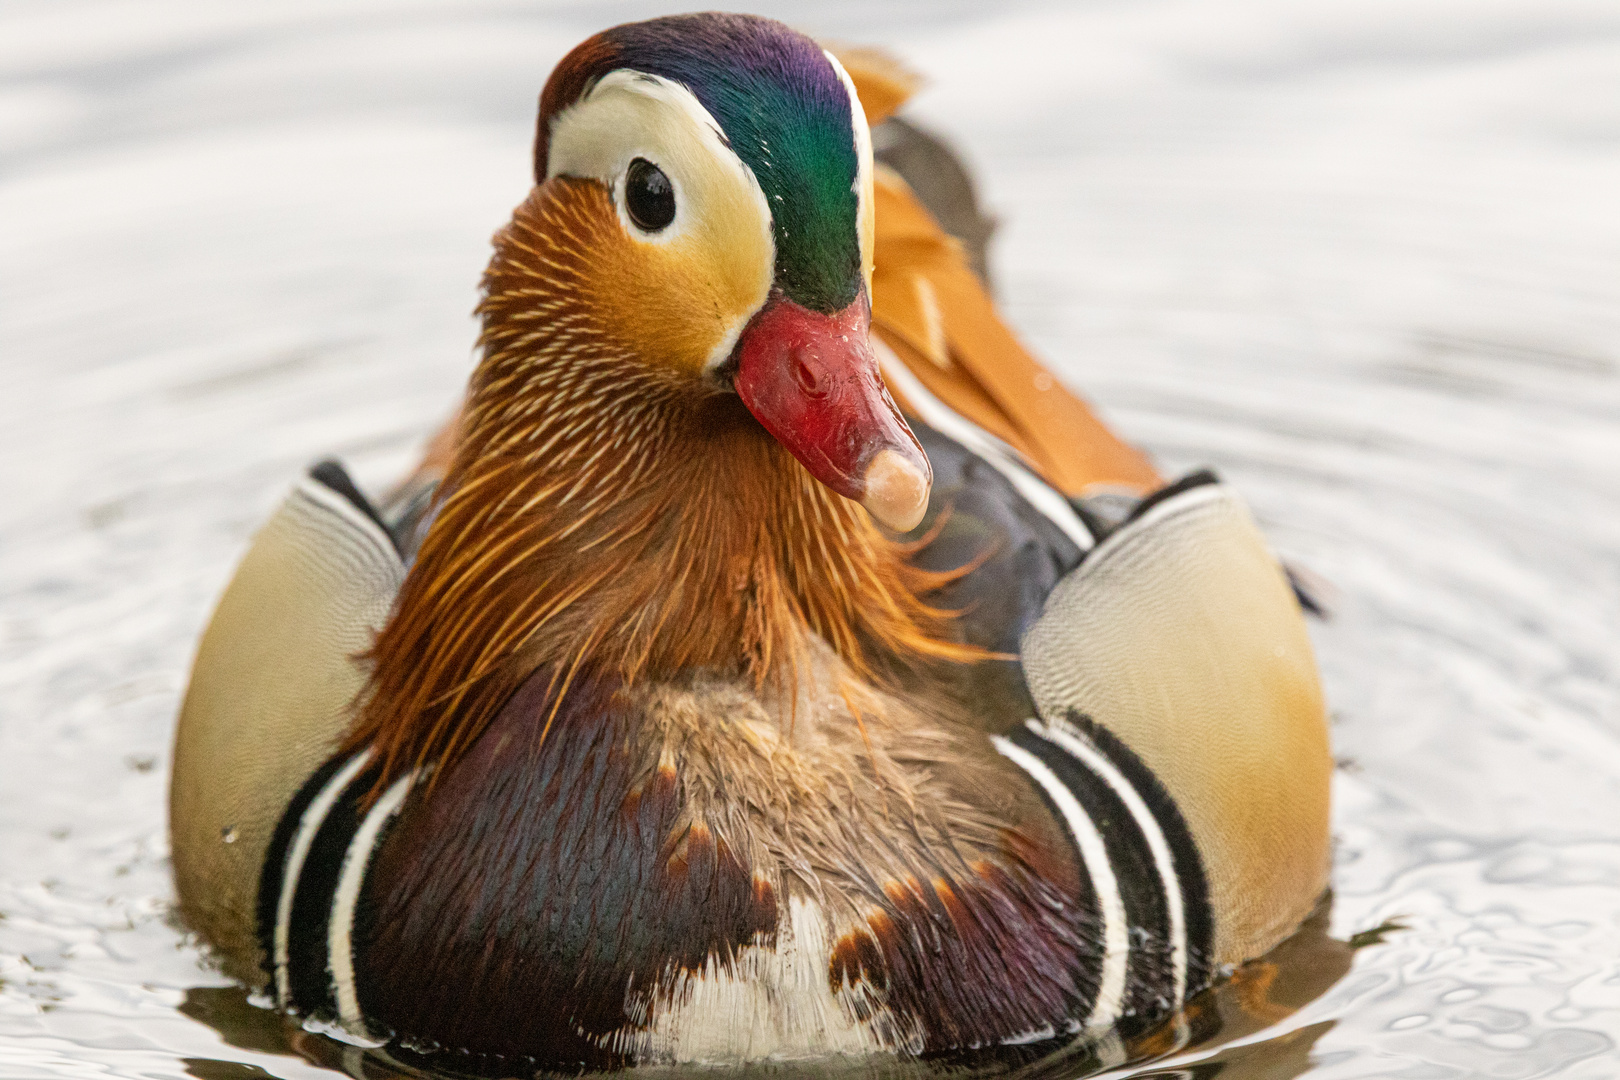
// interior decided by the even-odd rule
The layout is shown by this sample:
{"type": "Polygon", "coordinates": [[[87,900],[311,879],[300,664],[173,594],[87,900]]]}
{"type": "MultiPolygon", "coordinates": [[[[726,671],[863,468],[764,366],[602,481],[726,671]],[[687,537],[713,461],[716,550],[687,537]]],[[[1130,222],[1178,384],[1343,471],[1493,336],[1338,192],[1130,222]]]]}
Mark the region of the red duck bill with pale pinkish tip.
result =
{"type": "Polygon", "coordinates": [[[732,351],[734,385],[812,476],[906,533],[928,508],[933,468],[883,385],[870,329],[865,293],[834,314],[773,293],[732,351]]]}

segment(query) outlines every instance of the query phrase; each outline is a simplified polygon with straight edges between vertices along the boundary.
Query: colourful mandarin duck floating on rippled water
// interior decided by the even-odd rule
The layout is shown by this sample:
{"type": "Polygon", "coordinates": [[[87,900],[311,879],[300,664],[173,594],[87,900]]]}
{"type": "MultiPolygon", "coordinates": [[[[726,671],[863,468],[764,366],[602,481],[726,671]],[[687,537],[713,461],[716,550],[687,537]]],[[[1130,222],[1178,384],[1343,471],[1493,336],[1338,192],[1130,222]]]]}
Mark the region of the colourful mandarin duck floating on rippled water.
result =
{"type": "Polygon", "coordinates": [[[936,1057],[1144,1033],[1311,913],[1288,580],[875,162],[909,91],[731,15],[557,65],[458,415],[381,507],[316,466],[201,640],[228,973],[458,1072],[936,1057]]]}

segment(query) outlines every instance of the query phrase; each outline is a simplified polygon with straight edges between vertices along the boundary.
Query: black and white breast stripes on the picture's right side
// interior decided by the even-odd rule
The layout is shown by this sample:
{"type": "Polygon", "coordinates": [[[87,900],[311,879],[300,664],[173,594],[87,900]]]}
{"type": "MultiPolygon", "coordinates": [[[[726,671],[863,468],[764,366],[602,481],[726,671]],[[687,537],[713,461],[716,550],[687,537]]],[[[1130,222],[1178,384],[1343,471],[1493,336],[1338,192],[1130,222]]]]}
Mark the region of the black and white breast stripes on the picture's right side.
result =
{"type": "Polygon", "coordinates": [[[991,742],[1035,782],[1090,879],[1102,976],[1085,1027],[1147,1030],[1210,976],[1209,887],[1181,811],[1129,746],[1084,716],[1029,721],[991,742]]]}

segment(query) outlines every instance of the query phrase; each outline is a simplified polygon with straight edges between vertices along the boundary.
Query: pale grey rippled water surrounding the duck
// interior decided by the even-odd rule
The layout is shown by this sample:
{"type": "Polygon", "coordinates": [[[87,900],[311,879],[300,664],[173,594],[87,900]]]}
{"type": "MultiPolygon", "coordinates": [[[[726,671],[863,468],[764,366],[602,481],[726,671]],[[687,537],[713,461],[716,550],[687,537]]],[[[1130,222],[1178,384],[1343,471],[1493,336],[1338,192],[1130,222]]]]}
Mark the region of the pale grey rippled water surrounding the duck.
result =
{"type": "MultiPolygon", "coordinates": [[[[1152,1075],[1620,1075],[1620,6],[765,8],[930,76],[1011,321],[1335,589],[1332,933],[1405,929],[1152,1075]]],[[[449,410],[546,73],[653,13],[0,6],[0,1077],[334,1075],[167,915],[193,641],[449,410]]]]}

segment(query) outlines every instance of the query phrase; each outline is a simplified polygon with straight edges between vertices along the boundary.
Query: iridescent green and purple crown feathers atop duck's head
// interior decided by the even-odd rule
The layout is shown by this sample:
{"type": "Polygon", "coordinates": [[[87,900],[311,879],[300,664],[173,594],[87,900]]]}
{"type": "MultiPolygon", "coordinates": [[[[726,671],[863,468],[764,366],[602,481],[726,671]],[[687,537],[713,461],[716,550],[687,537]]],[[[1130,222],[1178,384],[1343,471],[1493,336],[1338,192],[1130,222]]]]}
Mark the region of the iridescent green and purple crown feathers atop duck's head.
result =
{"type": "Polygon", "coordinates": [[[854,115],[849,91],[813,40],[747,15],[677,15],[603,31],[562,58],[539,99],[536,180],[551,120],[609,71],[680,83],[719,123],[771,207],[776,285],[812,311],[860,291],[854,115]]]}

